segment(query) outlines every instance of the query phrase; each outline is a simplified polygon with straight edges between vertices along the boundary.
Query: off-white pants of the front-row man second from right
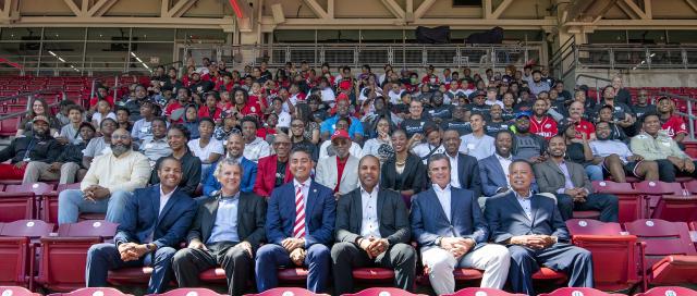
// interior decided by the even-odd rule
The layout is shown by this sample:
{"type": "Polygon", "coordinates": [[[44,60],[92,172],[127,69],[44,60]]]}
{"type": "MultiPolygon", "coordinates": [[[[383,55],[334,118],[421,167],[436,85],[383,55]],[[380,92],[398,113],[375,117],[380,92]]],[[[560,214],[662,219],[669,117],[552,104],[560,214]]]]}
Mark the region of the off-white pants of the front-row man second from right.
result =
{"type": "Polygon", "coordinates": [[[421,249],[421,260],[428,267],[428,280],[437,295],[455,292],[453,270],[456,267],[484,270],[481,287],[503,288],[511,266],[509,250],[496,244],[470,250],[460,261],[445,249],[427,247],[421,249]]]}

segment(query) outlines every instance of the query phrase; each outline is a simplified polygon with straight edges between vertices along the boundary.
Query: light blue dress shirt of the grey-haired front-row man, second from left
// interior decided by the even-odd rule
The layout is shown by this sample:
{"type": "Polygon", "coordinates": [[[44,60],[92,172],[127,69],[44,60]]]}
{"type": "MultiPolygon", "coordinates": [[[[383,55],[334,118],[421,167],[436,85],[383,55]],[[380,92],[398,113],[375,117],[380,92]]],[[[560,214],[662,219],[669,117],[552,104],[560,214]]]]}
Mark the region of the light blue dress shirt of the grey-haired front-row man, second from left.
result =
{"type": "Polygon", "coordinates": [[[240,192],[232,197],[221,197],[218,199],[218,211],[216,212],[216,223],[206,244],[219,242],[240,242],[237,234],[237,207],[240,206],[240,192]]]}

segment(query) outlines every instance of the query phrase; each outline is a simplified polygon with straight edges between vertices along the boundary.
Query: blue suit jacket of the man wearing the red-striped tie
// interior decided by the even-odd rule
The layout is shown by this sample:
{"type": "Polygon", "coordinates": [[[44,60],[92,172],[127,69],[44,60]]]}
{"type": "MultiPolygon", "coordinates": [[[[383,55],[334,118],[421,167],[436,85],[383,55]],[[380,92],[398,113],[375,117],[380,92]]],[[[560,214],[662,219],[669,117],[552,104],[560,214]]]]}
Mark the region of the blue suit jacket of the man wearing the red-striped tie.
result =
{"type": "MultiPolygon", "coordinates": [[[[317,182],[309,185],[305,198],[305,248],[314,244],[329,245],[333,240],[337,220],[334,193],[317,182]]],[[[293,237],[295,223],[295,185],[289,182],[276,188],[269,199],[266,215],[266,238],[271,244],[293,237]]]]}

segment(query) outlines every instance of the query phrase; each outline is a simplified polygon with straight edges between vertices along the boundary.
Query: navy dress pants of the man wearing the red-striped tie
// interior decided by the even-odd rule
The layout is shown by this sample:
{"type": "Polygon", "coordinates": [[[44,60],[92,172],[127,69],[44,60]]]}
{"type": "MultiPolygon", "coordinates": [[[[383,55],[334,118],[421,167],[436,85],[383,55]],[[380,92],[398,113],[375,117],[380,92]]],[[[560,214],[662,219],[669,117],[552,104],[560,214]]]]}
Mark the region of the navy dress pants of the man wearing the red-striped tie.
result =
{"type": "MultiPolygon", "coordinates": [[[[323,293],[327,289],[331,273],[331,255],[329,248],[322,244],[311,245],[307,249],[304,266],[308,268],[307,289],[314,293],[323,293]]],[[[259,293],[279,285],[279,267],[293,268],[291,255],[283,247],[268,244],[259,248],[256,257],[255,272],[257,276],[257,291],[259,293]]]]}

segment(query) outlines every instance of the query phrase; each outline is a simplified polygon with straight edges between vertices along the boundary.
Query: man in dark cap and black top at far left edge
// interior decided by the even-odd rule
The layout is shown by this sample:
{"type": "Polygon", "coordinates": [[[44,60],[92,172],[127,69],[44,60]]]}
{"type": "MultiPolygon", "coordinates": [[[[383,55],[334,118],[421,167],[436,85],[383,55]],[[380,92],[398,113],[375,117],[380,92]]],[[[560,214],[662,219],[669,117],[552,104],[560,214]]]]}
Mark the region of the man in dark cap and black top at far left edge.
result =
{"type": "Polygon", "coordinates": [[[52,163],[61,153],[58,141],[51,136],[49,120],[37,115],[32,121],[33,133],[29,137],[16,137],[10,146],[0,151],[0,180],[22,180],[28,163],[52,163]]]}

